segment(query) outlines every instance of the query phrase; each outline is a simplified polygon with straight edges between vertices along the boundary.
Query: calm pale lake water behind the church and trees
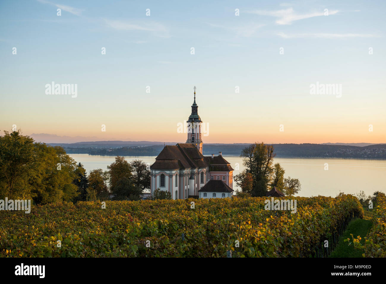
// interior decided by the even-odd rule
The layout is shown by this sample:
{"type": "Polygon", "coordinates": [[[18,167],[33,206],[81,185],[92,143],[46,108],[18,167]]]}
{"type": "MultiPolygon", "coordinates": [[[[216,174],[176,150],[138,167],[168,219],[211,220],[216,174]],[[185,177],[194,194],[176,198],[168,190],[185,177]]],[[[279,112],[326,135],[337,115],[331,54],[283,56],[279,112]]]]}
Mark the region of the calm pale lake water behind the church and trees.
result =
{"type": "MultiPolygon", "coordinates": [[[[107,170],[107,166],[114,162],[114,156],[91,156],[88,154],[69,154],[76,162],[81,162],[87,173],[93,169],[107,170]]],[[[154,163],[155,156],[125,156],[128,162],[140,159],[146,163],[154,163]]],[[[242,158],[239,156],[225,156],[231,166],[239,170],[244,169],[242,158]]],[[[364,191],[367,195],[374,191],[386,193],[385,173],[386,161],[384,160],[359,160],[359,159],[324,159],[324,158],[275,158],[274,163],[280,163],[285,169],[284,177],[299,179],[301,190],[298,196],[332,196],[339,192],[355,194],[364,191]],[[326,171],[325,163],[328,163],[326,171]]],[[[234,185],[234,190],[237,187],[234,185]]]]}

